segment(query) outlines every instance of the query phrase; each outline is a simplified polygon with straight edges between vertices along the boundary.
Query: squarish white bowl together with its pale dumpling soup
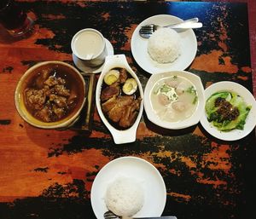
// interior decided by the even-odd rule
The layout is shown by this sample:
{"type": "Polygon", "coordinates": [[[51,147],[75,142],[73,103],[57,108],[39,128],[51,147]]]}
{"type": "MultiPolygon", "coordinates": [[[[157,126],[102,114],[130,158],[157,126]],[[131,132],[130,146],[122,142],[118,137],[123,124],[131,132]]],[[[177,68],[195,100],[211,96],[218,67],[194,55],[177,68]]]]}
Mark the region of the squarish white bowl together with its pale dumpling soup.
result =
{"type": "Polygon", "coordinates": [[[144,108],[148,120],[165,129],[197,124],[205,109],[201,78],[185,71],[152,75],[144,91],[144,108]]]}

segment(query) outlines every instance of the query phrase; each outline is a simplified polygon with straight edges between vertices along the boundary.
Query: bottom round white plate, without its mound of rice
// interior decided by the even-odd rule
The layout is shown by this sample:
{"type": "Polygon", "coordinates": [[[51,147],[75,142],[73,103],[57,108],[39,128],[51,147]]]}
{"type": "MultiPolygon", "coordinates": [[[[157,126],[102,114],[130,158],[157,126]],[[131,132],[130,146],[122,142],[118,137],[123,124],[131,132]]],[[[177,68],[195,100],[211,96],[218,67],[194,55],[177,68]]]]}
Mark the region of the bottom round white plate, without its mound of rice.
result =
{"type": "Polygon", "coordinates": [[[103,214],[108,211],[104,195],[109,183],[119,176],[141,182],[144,205],[135,216],[161,216],[166,205],[166,185],[159,171],[142,158],[122,157],[106,164],[92,184],[90,202],[97,219],[104,219],[103,214]]]}

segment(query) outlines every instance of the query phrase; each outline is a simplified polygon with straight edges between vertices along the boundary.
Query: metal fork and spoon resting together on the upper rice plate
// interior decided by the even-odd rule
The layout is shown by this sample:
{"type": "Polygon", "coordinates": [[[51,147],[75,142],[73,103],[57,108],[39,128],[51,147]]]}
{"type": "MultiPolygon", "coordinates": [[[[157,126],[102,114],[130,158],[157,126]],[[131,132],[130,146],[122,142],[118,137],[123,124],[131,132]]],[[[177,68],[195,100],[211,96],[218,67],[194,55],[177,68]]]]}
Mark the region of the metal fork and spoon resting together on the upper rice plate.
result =
{"type": "Polygon", "coordinates": [[[142,26],[139,30],[139,34],[143,38],[149,38],[153,32],[158,30],[159,28],[167,27],[172,29],[189,29],[189,28],[201,28],[202,23],[198,22],[198,18],[191,18],[189,20],[184,20],[183,22],[172,24],[168,26],[158,26],[154,24],[142,26]]]}

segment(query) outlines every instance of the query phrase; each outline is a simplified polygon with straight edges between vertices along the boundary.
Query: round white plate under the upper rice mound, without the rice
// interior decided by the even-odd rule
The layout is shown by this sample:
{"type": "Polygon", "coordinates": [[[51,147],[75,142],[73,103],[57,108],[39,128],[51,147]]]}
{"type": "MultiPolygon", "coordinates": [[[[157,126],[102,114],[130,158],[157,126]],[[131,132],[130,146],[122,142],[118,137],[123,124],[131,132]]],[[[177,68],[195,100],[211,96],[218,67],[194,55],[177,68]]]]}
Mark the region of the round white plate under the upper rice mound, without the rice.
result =
{"type": "Polygon", "coordinates": [[[176,61],[166,64],[157,63],[150,58],[148,55],[148,39],[140,37],[139,35],[141,26],[152,23],[160,26],[166,26],[181,21],[183,20],[169,14],[159,14],[143,20],[143,22],[137,26],[131,37],[131,53],[134,59],[137,61],[137,64],[141,66],[143,70],[151,74],[172,70],[184,70],[195,59],[197,41],[195,32],[192,29],[178,32],[182,40],[181,55],[176,61]]]}

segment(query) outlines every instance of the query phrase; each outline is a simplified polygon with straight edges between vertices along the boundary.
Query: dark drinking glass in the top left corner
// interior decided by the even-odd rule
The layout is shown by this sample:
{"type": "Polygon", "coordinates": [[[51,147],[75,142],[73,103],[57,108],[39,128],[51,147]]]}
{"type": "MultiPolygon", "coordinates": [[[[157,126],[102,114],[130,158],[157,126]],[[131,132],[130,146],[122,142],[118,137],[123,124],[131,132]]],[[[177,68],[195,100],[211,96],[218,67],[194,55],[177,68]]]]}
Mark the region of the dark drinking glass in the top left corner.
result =
{"type": "Polygon", "coordinates": [[[15,0],[0,1],[0,23],[13,37],[22,37],[33,28],[33,20],[15,0]]]}

